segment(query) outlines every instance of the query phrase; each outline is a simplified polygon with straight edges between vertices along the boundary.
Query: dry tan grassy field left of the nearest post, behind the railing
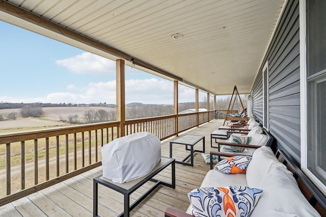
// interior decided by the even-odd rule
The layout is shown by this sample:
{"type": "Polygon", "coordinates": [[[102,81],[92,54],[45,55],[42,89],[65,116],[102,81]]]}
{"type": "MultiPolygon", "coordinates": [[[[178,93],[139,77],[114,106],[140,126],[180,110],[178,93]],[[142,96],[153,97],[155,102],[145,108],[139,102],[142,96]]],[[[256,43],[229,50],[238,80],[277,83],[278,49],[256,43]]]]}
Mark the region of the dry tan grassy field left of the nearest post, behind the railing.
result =
{"type": "MultiPolygon", "coordinates": [[[[83,118],[85,111],[104,109],[106,111],[114,108],[105,107],[52,107],[43,108],[44,114],[40,118],[21,118],[19,115],[16,120],[4,120],[0,121],[0,134],[10,134],[20,131],[39,130],[56,128],[62,126],[71,126],[67,122],[62,122],[60,119],[66,118],[69,115],[77,114],[79,118],[83,118]]],[[[19,112],[20,109],[2,109],[0,114],[7,117],[11,112],[19,112]]],[[[91,143],[91,157],[88,151],[89,141],[88,136],[85,136],[85,165],[88,165],[89,158],[95,162],[95,132],[92,132],[91,143]]],[[[105,136],[106,137],[106,136],[105,136]]],[[[100,135],[98,135],[100,138],[100,135]]],[[[69,171],[73,171],[73,137],[69,136],[68,155],[69,155],[69,171]]],[[[106,141],[106,139],[105,139],[106,141]]],[[[100,144],[100,141],[98,141],[100,144]]],[[[98,149],[100,149],[98,145],[98,149]]],[[[10,144],[11,152],[11,188],[12,192],[19,191],[20,189],[20,164],[21,164],[21,145],[20,142],[10,144]]],[[[82,167],[82,134],[77,134],[77,168],[82,167]]],[[[25,184],[26,188],[31,187],[34,184],[34,140],[25,141],[25,184]]],[[[49,138],[49,161],[50,161],[50,178],[56,177],[56,138],[49,138]]],[[[66,144],[64,136],[60,136],[59,144],[60,154],[60,175],[65,173],[66,162],[66,144]]],[[[100,160],[100,154],[98,159],[100,160]]],[[[45,140],[38,141],[38,173],[39,183],[45,181],[45,140]]],[[[0,144],[0,197],[5,196],[6,193],[6,144],[0,144]]]]}

